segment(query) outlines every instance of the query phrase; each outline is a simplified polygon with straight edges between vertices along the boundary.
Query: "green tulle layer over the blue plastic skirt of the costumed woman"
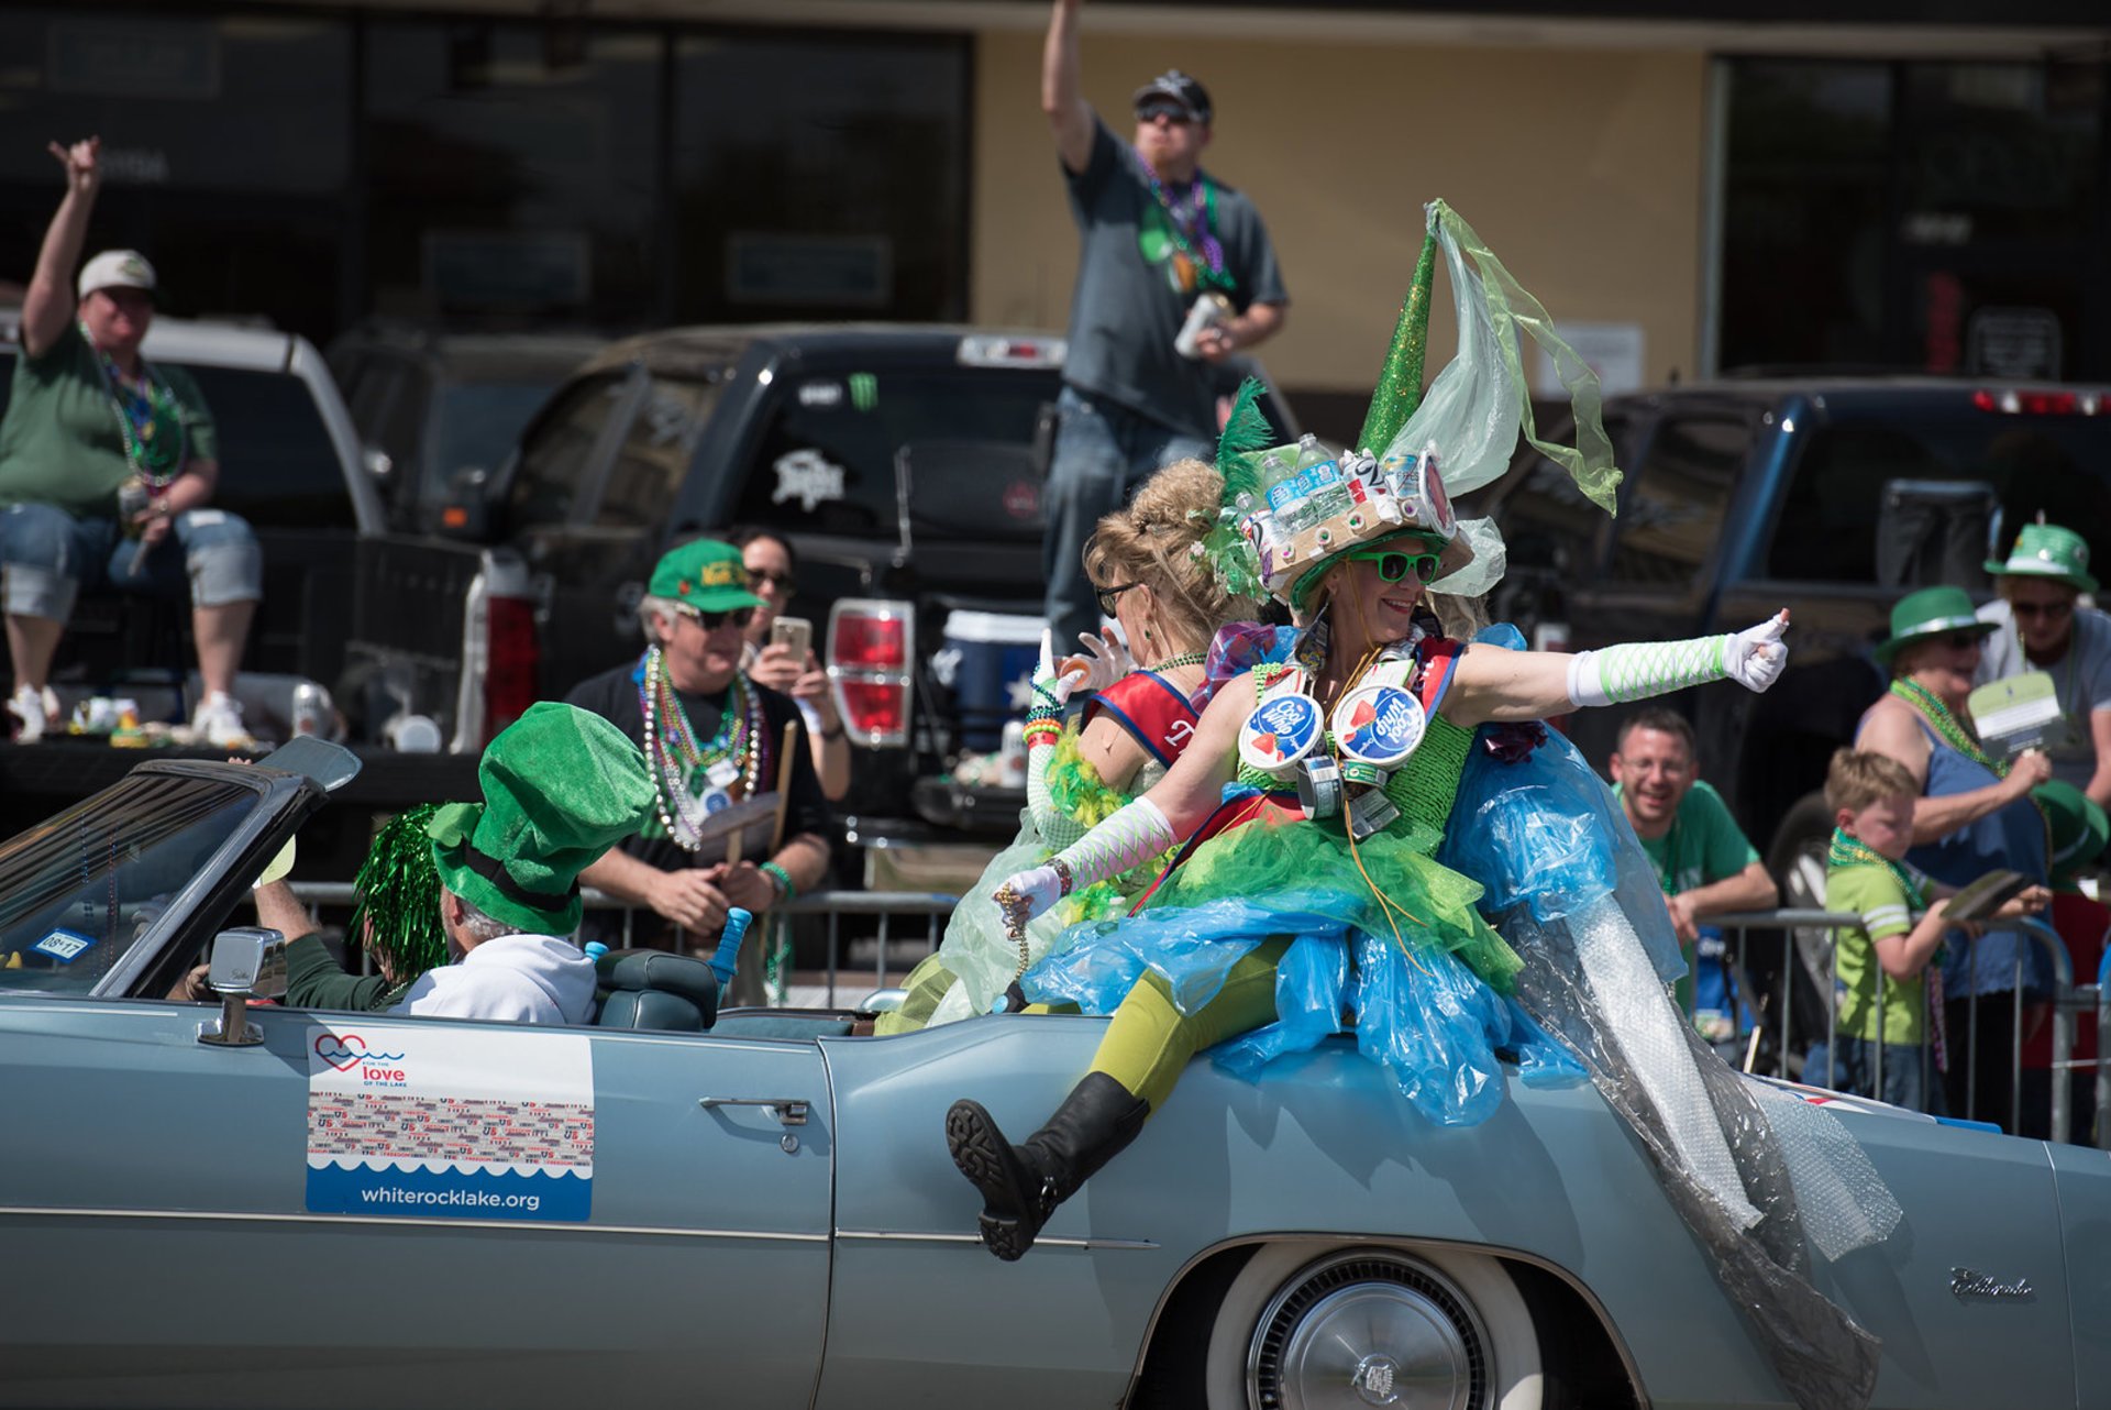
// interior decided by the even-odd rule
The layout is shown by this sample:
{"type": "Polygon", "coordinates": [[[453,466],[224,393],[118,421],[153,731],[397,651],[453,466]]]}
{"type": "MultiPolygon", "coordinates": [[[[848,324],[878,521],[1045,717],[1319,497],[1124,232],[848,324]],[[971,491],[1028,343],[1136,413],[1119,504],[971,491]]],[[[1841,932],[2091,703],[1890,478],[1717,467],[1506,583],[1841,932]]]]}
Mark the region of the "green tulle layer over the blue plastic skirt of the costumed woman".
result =
{"type": "Polygon", "coordinates": [[[1345,832],[1264,815],[1197,846],[1150,897],[1150,910],[1237,897],[1324,914],[1372,935],[1397,929],[1408,958],[1446,950],[1488,988],[1509,994],[1524,963],[1480,918],[1480,882],[1425,855],[1416,830],[1389,827],[1351,851],[1345,832]],[[1374,884],[1391,906],[1378,901],[1374,884]]]}

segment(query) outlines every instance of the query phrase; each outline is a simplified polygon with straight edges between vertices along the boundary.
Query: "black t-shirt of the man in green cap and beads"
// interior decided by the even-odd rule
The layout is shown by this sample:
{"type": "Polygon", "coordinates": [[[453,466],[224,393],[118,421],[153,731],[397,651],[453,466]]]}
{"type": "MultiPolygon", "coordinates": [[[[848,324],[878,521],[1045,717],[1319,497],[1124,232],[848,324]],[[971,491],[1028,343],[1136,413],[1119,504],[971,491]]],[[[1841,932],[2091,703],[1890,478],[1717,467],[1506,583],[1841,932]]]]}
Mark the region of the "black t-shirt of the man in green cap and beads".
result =
{"type": "MultiPolygon", "coordinates": [[[[642,680],[642,661],[631,665],[619,665],[612,671],[602,671],[589,680],[583,680],[564,697],[566,705],[578,705],[581,709],[591,709],[602,716],[619,730],[629,735],[644,747],[646,739],[646,716],[638,701],[638,682],[642,680]]],[[[764,775],[756,779],[756,792],[768,794],[777,787],[779,770],[779,749],[785,741],[785,724],[792,726],[792,787],[785,789],[785,840],[796,838],[802,832],[819,834],[821,838],[834,838],[836,819],[828,808],[828,796],[821,794],[821,779],[813,770],[813,745],[806,743],[806,724],[800,720],[798,703],[787,694],[768,690],[754,682],[747,682],[762,701],[762,737],[764,745],[764,775]]],[[[726,705],[733,699],[733,690],[720,690],[716,697],[676,692],[682,701],[682,711],[688,716],[690,730],[697,739],[709,739],[718,732],[724,720],[726,705]]],[[[659,789],[667,787],[661,773],[661,762],[646,758],[646,768],[652,770],[652,783],[659,789]]],[[[661,806],[667,808],[669,817],[673,806],[661,798],[661,806]]],[[[754,863],[771,859],[771,832],[775,823],[771,819],[758,819],[754,825],[745,827],[741,834],[741,857],[754,863]]],[[[781,846],[781,842],[779,842],[781,846]]],[[[673,838],[665,836],[659,819],[646,827],[646,836],[629,838],[623,851],[638,857],[646,865],[659,868],[663,872],[676,872],[680,868],[695,865],[716,865],[726,859],[726,840],[716,838],[705,842],[701,851],[690,853],[676,844],[673,838]]]]}

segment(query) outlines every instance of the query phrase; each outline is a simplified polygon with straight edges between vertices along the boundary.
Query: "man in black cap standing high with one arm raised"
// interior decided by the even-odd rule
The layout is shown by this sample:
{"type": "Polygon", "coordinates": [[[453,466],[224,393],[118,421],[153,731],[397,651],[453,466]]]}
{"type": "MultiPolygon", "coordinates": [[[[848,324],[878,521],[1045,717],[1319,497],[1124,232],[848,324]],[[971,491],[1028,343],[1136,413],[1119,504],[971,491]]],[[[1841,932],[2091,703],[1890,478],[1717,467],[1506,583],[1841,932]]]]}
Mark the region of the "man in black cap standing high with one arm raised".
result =
{"type": "Polygon", "coordinates": [[[1079,0],[1056,0],[1041,51],[1041,110],[1079,228],[1041,553],[1058,654],[1100,627],[1085,538],[1159,466],[1210,458],[1229,390],[1218,363],[1271,338],[1290,302],[1254,203],[1201,169],[1210,93],[1159,74],[1134,93],[1123,141],[1079,89],[1077,17],[1079,0]],[[1199,331],[1182,340],[1191,315],[1199,331]]]}

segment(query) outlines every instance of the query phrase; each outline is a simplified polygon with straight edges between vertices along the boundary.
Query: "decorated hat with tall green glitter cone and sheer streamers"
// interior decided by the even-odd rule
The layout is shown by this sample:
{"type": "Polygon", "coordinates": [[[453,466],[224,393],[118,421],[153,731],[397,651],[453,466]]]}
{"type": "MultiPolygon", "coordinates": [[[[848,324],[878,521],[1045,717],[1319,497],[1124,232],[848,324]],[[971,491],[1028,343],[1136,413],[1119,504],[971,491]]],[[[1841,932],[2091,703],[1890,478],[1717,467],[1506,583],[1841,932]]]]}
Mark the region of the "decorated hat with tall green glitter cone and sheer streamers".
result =
{"type": "Polygon", "coordinates": [[[1600,420],[1598,376],[1471,226],[1442,201],[1431,201],[1425,215],[1414,283],[1378,369],[1357,450],[1332,456],[1311,437],[1269,447],[1267,420],[1254,407],[1258,384],[1239,390],[1218,443],[1224,511],[1203,540],[1229,591],[1267,591],[1302,610],[1343,553],[1414,534],[1440,551],[1435,591],[1486,593],[1503,576],[1503,538],[1486,519],[1457,521],[1450,496],[1499,479],[1520,431],[1566,469],[1590,500],[1613,513],[1619,471],[1600,420]],[[1450,274],[1459,352],[1423,390],[1438,253],[1450,274]],[[1554,359],[1575,409],[1575,447],[1537,435],[1518,357],[1520,334],[1554,359]]]}

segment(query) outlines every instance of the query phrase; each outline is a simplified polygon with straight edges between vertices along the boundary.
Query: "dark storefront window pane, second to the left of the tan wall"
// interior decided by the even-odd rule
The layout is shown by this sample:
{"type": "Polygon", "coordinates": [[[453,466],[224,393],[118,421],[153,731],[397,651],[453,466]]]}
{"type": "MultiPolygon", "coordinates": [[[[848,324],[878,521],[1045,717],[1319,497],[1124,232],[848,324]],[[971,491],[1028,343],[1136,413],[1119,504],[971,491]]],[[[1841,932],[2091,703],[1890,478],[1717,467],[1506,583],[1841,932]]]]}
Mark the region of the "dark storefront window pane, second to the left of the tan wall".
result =
{"type": "Polygon", "coordinates": [[[638,321],[652,296],[654,32],[372,23],[365,74],[376,312],[638,321]]]}

